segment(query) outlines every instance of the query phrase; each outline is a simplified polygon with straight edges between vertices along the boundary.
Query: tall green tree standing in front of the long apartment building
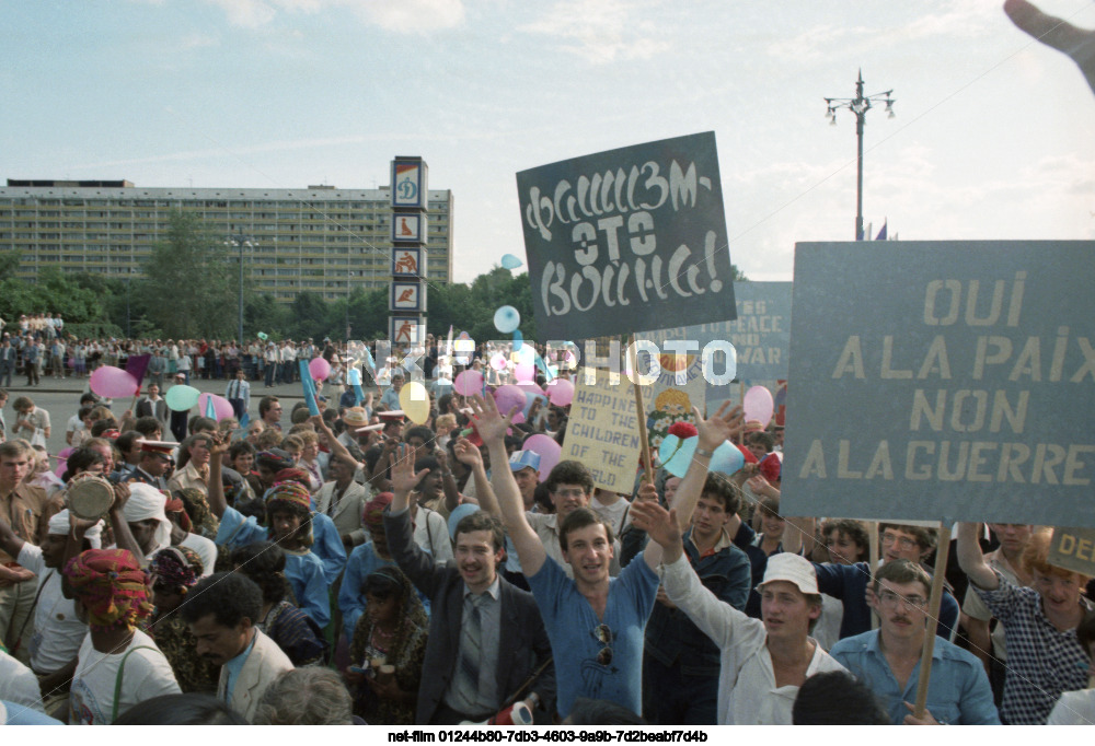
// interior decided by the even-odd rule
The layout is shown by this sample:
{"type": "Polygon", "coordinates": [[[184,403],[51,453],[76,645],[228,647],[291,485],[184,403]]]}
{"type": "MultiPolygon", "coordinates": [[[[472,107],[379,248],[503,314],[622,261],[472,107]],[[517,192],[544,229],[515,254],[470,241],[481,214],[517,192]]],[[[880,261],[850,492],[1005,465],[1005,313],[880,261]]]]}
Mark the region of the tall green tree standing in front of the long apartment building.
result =
{"type": "Polygon", "coordinates": [[[172,211],[168,236],[152,249],[134,293],[168,337],[235,336],[235,254],[195,214],[172,211]]]}

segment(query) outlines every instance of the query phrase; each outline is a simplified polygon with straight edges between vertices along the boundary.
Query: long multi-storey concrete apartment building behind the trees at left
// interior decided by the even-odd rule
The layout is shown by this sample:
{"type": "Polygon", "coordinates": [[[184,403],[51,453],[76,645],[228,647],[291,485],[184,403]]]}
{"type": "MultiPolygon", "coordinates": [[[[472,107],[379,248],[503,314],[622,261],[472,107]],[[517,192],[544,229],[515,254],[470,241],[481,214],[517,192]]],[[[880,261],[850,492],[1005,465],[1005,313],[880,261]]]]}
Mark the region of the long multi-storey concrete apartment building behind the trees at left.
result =
{"type": "MultiPolygon", "coordinates": [[[[452,193],[428,193],[429,281],[452,278],[452,193]]],[[[290,302],[297,293],[345,298],[391,281],[391,191],[338,189],[143,188],[129,182],[8,179],[0,187],[0,252],[23,253],[20,276],[39,269],[140,277],[164,238],[171,210],[197,214],[224,243],[235,271],[258,292],[290,302]]],[[[229,270],[231,271],[231,270],[229,270]]]]}

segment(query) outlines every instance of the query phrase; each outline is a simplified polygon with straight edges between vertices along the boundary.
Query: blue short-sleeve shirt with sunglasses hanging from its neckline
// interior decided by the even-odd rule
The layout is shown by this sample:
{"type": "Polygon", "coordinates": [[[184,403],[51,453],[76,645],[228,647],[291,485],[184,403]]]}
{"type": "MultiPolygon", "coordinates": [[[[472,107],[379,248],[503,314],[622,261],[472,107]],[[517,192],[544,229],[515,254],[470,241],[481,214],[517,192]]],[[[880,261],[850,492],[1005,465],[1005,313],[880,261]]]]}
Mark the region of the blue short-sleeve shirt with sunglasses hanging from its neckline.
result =
{"type": "Polygon", "coordinates": [[[528,576],[551,640],[558,683],[558,714],[566,718],[578,697],[607,699],[643,711],[643,631],[654,609],[658,575],[636,559],[609,579],[603,619],[551,557],[528,576]],[[603,633],[608,627],[610,634],[603,633]],[[606,640],[604,638],[610,638],[606,640]],[[611,653],[602,653],[610,650],[611,653]],[[599,663],[598,656],[607,663],[599,663]]]}

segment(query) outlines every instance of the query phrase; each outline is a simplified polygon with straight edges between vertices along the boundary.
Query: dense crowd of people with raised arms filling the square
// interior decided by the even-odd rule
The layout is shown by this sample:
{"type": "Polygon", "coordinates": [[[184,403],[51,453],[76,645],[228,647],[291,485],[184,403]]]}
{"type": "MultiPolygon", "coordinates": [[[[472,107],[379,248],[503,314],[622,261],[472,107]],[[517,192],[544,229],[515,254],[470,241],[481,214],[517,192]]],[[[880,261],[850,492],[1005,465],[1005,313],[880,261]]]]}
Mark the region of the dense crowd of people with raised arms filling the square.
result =
{"type": "MultiPolygon", "coordinates": [[[[73,403],[60,469],[36,442],[48,413],[14,400],[0,443],[9,722],[1095,720],[1088,579],[1049,564],[1046,528],[959,525],[935,568],[935,529],[785,516],[782,428],[728,405],[694,412],[682,476],[641,461],[632,490],[608,492],[578,461],[541,469],[529,439],[561,444],[568,407],[537,399],[519,418],[491,385],[461,396],[435,380],[415,423],[401,371],[379,392],[328,377],[319,415],[268,393],[253,405],[270,370],[297,368],[262,341],[229,345],[219,368],[216,345],[122,343],[175,369],[150,365],[132,411],[73,403]],[[227,378],[234,417],[163,404],[185,359],[227,378]],[[710,468],[726,441],[746,462],[734,474],[710,468]],[[97,515],[78,509],[91,486],[106,490],[97,515]]],[[[480,353],[469,366],[491,368],[480,353]]]]}

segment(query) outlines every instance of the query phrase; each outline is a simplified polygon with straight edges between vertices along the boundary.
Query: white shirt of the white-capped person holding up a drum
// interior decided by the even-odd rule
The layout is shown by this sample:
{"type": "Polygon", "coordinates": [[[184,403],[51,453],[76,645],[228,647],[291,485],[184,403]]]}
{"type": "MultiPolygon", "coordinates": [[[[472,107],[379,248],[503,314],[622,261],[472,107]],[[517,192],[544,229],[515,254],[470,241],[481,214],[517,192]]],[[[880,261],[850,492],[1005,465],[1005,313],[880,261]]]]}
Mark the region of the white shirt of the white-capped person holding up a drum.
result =
{"type": "Polygon", "coordinates": [[[34,607],[31,666],[39,674],[53,674],[76,657],[88,625],[76,614],[76,602],[61,593],[60,571],[46,567],[42,549],[23,543],[15,561],[38,576],[42,592],[34,607]]]}

